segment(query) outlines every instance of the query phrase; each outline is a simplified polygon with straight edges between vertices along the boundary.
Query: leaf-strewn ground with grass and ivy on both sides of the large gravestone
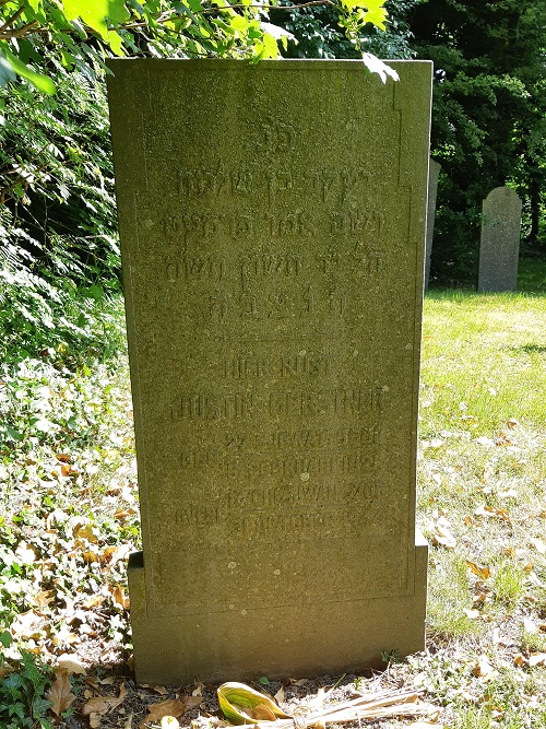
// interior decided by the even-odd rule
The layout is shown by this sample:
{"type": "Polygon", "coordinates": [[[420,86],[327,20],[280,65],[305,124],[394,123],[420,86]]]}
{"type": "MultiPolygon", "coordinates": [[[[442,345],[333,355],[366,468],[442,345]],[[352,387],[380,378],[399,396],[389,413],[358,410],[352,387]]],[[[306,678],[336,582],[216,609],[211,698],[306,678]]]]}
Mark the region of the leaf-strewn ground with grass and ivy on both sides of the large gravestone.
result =
{"type": "MultiPolygon", "coordinates": [[[[546,296],[429,292],[418,452],[427,650],[399,663],[385,646],[384,672],[347,675],[331,698],[348,697],[355,682],[403,683],[425,690],[446,727],[546,728],[545,388],[546,296]]],[[[14,363],[0,378],[0,727],[88,727],[93,707],[91,726],[140,727],[150,705],[195,686],[131,678],[124,569],[140,544],[124,358],[14,363]],[[57,663],[71,684],[56,678],[57,663]]],[[[281,687],[256,678],[256,687],[281,687]]],[[[339,679],[285,686],[290,710],[339,679]]],[[[202,710],[216,713],[213,687],[197,691],[202,710]]]]}

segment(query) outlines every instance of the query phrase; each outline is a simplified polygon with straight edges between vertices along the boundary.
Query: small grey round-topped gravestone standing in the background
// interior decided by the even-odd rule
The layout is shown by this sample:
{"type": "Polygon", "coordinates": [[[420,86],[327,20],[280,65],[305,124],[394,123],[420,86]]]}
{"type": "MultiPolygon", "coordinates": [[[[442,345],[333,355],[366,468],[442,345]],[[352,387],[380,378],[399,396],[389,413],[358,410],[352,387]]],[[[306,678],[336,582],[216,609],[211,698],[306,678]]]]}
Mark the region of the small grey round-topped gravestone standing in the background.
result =
{"type": "Polygon", "coordinates": [[[484,200],[482,211],[478,291],[515,291],[521,200],[509,187],[496,187],[484,200]]]}

